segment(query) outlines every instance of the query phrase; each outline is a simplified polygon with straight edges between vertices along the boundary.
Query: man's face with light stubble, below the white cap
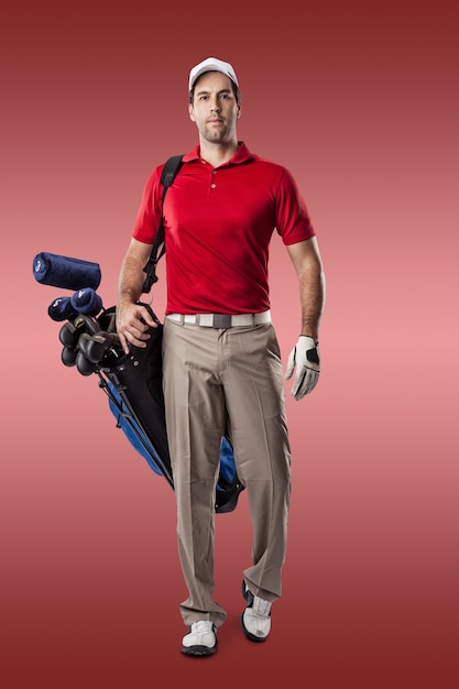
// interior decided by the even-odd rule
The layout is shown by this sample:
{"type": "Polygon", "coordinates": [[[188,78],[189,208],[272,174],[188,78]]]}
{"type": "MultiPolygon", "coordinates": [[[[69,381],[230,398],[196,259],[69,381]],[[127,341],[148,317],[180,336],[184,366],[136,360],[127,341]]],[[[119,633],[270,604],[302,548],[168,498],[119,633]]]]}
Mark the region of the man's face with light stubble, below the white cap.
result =
{"type": "Polygon", "coordinates": [[[236,136],[240,114],[231,79],[220,72],[208,72],[196,83],[189,118],[209,143],[227,143],[236,136]]]}

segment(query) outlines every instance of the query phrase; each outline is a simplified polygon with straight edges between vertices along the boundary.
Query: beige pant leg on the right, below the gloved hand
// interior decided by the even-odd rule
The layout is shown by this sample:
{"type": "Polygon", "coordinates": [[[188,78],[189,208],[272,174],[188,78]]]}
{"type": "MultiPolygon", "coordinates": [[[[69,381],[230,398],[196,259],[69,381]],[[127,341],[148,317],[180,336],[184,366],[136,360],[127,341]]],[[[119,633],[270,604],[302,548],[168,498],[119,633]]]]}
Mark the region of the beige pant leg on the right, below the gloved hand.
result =
{"type": "Polygon", "coordinates": [[[273,601],[282,593],[291,499],[280,349],[271,325],[228,329],[221,336],[221,347],[231,441],[253,526],[253,565],[243,573],[253,593],[273,601]]]}

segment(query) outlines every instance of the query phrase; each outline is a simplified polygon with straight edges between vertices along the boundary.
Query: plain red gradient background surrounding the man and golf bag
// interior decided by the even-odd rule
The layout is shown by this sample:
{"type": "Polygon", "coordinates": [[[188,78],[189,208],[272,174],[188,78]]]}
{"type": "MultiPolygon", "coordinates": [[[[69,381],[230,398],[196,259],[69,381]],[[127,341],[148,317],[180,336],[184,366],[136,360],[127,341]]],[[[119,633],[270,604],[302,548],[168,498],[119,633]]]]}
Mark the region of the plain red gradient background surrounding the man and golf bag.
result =
{"type": "MultiPolygon", "coordinates": [[[[458,20],[441,0],[1,11],[2,689],[459,686],[458,20]],[[196,661],[179,653],[173,492],[97,380],[62,365],[47,306],[63,293],[32,261],[99,262],[114,303],[147,174],[196,143],[187,73],[209,55],[240,78],[240,139],[298,181],[328,295],[320,383],[287,402],[272,636],[239,630],[242,495],[217,521],[228,621],[196,661]]],[[[276,238],[271,276],[286,357],[299,307],[276,238]]]]}

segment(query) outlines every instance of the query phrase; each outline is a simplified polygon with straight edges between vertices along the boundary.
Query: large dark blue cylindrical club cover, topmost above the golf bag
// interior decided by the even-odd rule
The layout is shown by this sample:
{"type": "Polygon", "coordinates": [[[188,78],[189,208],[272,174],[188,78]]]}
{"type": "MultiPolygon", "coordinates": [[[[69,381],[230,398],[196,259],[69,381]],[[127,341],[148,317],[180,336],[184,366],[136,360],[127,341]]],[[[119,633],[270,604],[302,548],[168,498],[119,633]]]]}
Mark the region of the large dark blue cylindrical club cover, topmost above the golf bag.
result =
{"type": "Polygon", "coordinates": [[[37,253],[33,260],[33,276],[43,285],[63,289],[80,289],[81,287],[97,289],[101,281],[98,263],[45,251],[37,253]]]}

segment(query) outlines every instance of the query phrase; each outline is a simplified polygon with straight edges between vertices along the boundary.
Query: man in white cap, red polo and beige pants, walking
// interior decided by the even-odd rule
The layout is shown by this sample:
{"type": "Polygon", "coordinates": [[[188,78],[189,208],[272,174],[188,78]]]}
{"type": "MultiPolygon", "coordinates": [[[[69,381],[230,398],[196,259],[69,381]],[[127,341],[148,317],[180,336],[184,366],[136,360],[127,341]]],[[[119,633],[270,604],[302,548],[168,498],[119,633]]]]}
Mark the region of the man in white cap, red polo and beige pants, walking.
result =
{"type": "MultiPolygon", "coordinates": [[[[167,305],[163,387],[178,553],[189,627],[182,652],[208,656],[226,612],[214,600],[214,492],[227,428],[253,527],[252,566],[243,572],[242,631],[265,641],[271,606],[281,597],[291,494],[284,379],[271,324],[267,258],[274,229],[296,270],[302,325],[285,378],[292,394],[310,393],[319,375],[318,335],[325,278],[315,231],[287,169],[238,141],[238,78],[209,57],[189,74],[189,118],[199,144],[164,204],[167,305]]],[[[160,165],[146,182],[119,283],[117,328],[124,350],[144,347],[153,326],[138,304],[161,217],[160,165]]]]}

